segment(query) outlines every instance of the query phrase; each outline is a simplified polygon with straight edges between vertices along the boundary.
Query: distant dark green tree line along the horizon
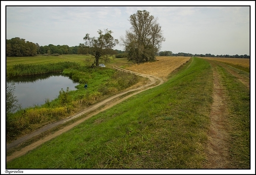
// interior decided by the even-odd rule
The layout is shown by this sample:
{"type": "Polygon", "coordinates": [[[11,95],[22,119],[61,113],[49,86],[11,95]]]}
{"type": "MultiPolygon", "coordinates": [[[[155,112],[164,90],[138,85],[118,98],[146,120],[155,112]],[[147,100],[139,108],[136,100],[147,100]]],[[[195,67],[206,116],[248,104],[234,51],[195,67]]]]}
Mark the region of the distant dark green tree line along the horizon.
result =
{"type": "MultiPolygon", "coordinates": [[[[38,43],[26,41],[23,38],[14,37],[6,39],[6,56],[22,57],[22,56],[36,56],[52,55],[52,54],[89,54],[90,47],[83,43],[78,46],[69,47],[68,45],[45,45],[39,46],[38,43]]],[[[116,58],[128,58],[128,52],[121,50],[113,50],[116,58]]],[[[212,54],[191,54],[191,53],[172,53],[172,51],[160,51],[157,56],[183,56],[183,57],[220,57],[220,58],[250,58],[250,55],[212,55],[212,54]]]]}

